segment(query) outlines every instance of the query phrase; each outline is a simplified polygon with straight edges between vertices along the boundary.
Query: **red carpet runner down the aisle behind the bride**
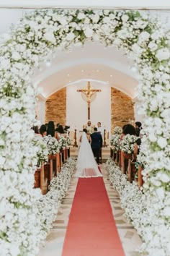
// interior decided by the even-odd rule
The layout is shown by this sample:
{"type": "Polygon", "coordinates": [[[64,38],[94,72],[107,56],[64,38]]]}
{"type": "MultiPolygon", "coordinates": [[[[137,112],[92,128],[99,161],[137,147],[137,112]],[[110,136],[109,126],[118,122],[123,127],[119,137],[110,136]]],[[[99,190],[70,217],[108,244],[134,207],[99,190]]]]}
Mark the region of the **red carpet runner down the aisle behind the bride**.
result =
{"type": "Polygon", "coordinates": [[[62,256],[125,256],[102,178],[79,178],[62,256]]]}

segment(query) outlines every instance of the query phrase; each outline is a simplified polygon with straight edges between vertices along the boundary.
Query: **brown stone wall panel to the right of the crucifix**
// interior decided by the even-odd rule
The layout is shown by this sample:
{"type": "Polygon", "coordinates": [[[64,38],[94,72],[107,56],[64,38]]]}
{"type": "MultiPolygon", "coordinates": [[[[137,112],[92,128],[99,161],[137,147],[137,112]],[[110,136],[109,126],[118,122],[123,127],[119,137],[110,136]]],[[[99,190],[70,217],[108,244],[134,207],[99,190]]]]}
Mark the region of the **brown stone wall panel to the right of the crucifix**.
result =
{"type": "Polygon", "coordinates": [[[135,119],[132,99],[120,90],[111,88],[111,134],[114,127],[123,127],[132,119],[135,119]]]}

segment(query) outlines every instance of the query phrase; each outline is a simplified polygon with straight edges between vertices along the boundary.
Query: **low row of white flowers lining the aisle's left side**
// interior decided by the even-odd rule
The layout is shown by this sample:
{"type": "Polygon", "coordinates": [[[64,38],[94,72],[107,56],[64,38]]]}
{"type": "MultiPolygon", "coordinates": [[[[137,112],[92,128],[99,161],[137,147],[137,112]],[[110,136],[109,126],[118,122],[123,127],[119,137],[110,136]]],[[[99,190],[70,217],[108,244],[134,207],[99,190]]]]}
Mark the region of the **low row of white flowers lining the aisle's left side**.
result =
{"type": "Polygon", "coordinates": [[[55,221],[63,197],[66,196],[75,166],[76,161],[69,158],[64,163],[58,176],[55,176],[50,182],[48,193],[35,202],[35,208],[38,211],[37,218],[40,218],[41,222],[43,239],[48,235],[50,228],[53,227],[53,221],[55,221]]]}

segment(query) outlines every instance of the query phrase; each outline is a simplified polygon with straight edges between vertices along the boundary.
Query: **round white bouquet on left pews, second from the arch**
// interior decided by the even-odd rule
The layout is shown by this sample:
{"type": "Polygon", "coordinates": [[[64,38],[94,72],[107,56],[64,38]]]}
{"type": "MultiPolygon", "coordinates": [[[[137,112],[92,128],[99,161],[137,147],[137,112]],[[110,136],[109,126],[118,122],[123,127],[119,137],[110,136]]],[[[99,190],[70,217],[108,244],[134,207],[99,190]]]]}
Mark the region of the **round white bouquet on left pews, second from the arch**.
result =
{"type": "Polygon", "coordinates": [[[61,145],[55,137],[51,135],[43,137],[44,142],[48,147],[48,155],[55,155],[60,152],[61,145]]]}

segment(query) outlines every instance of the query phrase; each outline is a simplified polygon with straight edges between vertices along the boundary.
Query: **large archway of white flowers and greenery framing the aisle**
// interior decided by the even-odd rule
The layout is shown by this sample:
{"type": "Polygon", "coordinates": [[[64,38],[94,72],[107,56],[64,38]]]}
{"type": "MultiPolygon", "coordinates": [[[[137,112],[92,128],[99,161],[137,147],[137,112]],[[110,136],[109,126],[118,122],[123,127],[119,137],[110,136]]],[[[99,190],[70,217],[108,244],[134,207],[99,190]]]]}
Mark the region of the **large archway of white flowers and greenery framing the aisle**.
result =
{"type": "Polygon", "coordinates": [[[149,224],[141,217],[143,248],[149,255],[170,255],[169,34],[139,12],[56,9],[27,14],[1,43],[1,252],[36,255],[43,236],[35,205],[40,193],[32,189],[37,163],[30,131],[37,95],[33,69],[57,48],[81,46],[86,40],[123,48],[138,67],[147,136],[143,191],[149,224]]]}

